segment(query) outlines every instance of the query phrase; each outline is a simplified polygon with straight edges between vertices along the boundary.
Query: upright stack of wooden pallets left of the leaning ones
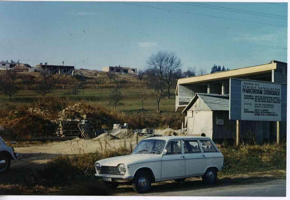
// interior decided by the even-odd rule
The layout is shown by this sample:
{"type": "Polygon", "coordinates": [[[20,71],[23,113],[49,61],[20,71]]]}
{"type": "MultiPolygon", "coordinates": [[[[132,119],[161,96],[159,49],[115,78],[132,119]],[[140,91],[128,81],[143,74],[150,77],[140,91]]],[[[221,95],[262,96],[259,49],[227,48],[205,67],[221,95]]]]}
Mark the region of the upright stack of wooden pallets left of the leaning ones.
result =
{"type": "Polygon", "coordinates": [[[57,128],[55,134],[60,137],[78,136],[81,133],[78,127],[79,123],[79,120],[59,121],[59,128],[57,128]]]}

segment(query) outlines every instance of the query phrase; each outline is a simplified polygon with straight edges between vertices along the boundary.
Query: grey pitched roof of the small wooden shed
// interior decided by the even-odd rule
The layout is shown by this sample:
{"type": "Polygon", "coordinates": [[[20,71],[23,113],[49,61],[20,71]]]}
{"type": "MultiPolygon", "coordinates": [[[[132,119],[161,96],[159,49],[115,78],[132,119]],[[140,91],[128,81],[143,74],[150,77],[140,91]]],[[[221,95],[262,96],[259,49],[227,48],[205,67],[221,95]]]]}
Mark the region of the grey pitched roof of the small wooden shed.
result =
{"type": "Polygon", "coordinates": [[[182,111],[187,111],[197,100],[197,98],[201,98],[203,102],[209,107],[211,110],[229,110],[230,101],[228,94],[206,94],[206,93],[196,93],[195,96],[191,99],[189,104],[182,111]]]}

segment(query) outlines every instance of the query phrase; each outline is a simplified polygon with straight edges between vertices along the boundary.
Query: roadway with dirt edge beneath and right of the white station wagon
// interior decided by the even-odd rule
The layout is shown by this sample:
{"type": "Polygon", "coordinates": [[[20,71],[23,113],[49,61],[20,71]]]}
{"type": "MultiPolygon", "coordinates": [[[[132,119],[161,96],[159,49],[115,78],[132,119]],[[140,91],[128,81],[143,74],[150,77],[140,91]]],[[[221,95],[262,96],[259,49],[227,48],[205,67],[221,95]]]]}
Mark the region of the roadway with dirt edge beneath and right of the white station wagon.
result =
{"type": "MultiPolygon", "coordinates": [[[[284,171],[285,172],[285,171],[284,171]]],[[[131,186],[119,186],[111,195],[120,196],[234,196],[234,197],[285,197],[286,172],[249,173],[233,178],[218,179],[217,184],[205,185],[201,178],[186,179],[184,183],[166,181],[152,185],[150,192],[142,195],[133,191],[131,186]],[[276,175],[275,175],[276,174],[276,175]]]]}

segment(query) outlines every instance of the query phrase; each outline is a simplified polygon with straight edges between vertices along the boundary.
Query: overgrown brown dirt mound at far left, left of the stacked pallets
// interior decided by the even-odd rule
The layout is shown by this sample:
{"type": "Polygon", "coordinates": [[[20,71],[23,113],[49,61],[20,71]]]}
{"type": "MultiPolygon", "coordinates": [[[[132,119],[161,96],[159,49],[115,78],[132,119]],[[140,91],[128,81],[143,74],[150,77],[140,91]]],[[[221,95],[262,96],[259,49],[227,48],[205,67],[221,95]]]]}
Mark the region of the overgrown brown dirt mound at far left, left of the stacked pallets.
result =
{"type": "Polygon", "coordinates": [[[1,119],[0,126],[4,127],[3,134],[10,138],[51,136],[56,130],[56,124],[50,120],[26,110],[11,111],[6,118],[1,119]]]}

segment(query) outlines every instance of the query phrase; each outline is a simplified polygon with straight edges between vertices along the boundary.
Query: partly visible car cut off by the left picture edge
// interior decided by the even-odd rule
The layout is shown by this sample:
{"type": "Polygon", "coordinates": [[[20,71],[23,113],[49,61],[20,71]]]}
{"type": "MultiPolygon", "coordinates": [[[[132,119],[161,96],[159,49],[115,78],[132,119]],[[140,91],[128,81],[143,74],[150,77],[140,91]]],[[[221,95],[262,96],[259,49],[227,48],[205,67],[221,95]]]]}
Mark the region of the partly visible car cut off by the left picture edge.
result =
{"type": "Polygon", "coordinates": [[[14,148],[7,146],[0,136],[0,174],[8,172],[11,160],[16,160],[17,156],[18,154],[14,152],[14,148]]]}

